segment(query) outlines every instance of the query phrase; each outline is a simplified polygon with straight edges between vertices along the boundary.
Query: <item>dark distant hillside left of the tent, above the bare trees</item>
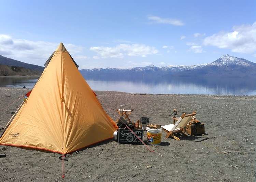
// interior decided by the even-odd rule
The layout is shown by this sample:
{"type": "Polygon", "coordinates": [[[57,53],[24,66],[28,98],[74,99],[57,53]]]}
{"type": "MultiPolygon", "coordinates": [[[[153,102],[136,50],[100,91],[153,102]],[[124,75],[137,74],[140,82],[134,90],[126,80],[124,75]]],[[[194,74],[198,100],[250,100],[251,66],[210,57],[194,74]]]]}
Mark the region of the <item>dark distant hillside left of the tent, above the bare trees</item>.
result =
{"type": "Polygon", "coordinates": [[[22,68],[26,68],[30,70],[38,70],[38,71],[44,70],[44,67],[42,66],[28,64],[28,63],[17,61],[1,55],[0,55],[0,65],[16,66],[16,67],[22,67],[22,68]]]}

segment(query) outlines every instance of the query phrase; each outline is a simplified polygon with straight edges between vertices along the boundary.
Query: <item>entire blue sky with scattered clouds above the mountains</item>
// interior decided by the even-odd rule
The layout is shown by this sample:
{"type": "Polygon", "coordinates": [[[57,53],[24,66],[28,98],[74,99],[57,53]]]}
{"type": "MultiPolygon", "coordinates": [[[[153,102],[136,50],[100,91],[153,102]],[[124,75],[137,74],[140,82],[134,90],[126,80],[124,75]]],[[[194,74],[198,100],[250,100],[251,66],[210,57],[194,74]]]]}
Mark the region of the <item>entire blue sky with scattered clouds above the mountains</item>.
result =
{"type": "Polygon", "coordinates": [[[256,62],[256,1],[0,1],[0,55],[43,65],[63,42],[83,68],[256,62]]]}

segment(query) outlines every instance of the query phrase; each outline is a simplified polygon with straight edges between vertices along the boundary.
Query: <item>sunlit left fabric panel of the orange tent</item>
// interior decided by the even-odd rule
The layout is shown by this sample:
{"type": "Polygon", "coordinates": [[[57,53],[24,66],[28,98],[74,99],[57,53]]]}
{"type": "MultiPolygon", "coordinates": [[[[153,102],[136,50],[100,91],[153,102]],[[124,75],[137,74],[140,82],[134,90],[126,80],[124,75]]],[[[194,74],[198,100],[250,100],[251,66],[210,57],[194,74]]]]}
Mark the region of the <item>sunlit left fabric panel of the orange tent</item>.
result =
{"type": "Polygon", "coordinates": [[[0,138],[0,144],[43,148],[63,153],[62,75],[56,52],[27,101],[0,138]]]}

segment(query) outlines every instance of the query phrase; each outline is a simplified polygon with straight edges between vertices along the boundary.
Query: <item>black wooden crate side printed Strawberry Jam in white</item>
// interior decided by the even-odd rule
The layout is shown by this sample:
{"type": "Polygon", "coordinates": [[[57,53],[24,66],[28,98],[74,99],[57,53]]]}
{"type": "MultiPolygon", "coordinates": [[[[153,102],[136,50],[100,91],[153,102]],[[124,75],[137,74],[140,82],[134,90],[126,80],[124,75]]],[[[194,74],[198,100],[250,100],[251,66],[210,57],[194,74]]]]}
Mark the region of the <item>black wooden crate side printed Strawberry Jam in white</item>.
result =
{"type": "MultiPolygon", "coordinates": [[[[143,130],[131,129],[142,141],[143,130]]],[[[118,128],[118,143],[141,144],[141,141],[129,129],[118,128]]]]}

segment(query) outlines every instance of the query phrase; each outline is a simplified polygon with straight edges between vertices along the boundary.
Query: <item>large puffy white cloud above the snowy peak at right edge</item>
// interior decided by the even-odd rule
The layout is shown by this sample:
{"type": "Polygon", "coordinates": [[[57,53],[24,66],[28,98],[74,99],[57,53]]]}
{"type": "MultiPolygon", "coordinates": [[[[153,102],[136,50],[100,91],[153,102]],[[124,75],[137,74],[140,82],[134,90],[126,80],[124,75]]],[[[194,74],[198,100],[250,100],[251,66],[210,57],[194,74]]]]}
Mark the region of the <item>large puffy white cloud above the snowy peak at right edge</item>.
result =
{"type": "Polygon", "coordinates": [[[256,51],[256,22],[252,25],[233,26],[230,32],[218,32],[206,37],[204,45],[213,45],[232,52],[254,53],[256,51]]]}

